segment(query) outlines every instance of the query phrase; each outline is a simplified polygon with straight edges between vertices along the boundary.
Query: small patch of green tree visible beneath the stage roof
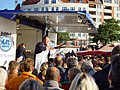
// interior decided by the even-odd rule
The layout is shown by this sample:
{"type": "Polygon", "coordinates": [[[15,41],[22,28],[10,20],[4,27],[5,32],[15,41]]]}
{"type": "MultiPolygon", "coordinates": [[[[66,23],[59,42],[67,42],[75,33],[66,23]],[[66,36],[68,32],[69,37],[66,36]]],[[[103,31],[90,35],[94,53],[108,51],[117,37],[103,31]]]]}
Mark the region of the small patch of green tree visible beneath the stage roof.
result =
{"type": "Polygon", "coordinates": [[[62,41],[70,40],[68,32],[57,32],[57,44],[60,44],[62,41]]]}

